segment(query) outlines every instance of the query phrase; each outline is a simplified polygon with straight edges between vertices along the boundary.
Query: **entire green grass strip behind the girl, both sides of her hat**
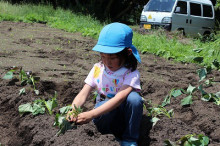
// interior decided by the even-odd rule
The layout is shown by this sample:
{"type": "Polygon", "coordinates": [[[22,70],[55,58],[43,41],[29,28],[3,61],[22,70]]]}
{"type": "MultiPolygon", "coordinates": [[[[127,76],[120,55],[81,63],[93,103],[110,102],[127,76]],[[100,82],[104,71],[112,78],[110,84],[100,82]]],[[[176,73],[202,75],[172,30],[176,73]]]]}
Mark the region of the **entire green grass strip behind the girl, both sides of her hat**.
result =
{"type": "MultiPolygon", "coordinates": [[[[11,5],[0,2],[0,21],[15,21],[27,23],[46,23],[50,27],[68,32],[81,32],[83,36],[98,39],[99,32],[105,24],[90,15],[72,13],[70,10],[45,5],[11,5]]],[[[133,26],[131,26],[133,27],[133,26]]],[[[174,59],[180,62],[198,63],[201,66],[220,69],[220,33],[213,36],[214,41],[203,42],[200,38],[181,42],[173,33],[168,38],[161,30],[142,35],[134,32],[134,45],[140,52],[174,59]]]]}

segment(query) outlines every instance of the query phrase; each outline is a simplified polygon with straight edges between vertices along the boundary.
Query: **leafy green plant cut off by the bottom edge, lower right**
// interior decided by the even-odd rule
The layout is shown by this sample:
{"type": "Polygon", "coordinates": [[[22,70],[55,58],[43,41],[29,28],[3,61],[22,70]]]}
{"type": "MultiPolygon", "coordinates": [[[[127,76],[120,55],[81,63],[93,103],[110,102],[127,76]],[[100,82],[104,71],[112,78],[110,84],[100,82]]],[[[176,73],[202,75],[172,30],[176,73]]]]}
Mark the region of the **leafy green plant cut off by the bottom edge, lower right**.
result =
{"type": "Polygon", "coordinates": [[[165,140],[165,146],[208,146],[209,137],[202,134],[188,134],[181,137],[178,141],[172,142],[165,140]]]}

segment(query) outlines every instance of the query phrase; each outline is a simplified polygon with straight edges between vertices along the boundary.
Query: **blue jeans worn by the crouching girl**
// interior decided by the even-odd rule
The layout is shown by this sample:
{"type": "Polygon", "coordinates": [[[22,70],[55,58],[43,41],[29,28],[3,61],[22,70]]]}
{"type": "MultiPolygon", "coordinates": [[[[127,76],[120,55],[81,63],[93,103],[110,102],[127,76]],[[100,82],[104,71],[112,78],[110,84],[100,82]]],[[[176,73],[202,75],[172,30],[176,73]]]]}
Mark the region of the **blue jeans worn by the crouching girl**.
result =
{"type": "MultiPolygon", "coordinates": [[[[95,105],[101,106],[108,99],[95,105]]],[[[143,114],[143,100],[137,92],[131,92],[127,99],[116,109],[93,119],[102,134],[114,134],[126,141],[137,141],[143,114]]]]}

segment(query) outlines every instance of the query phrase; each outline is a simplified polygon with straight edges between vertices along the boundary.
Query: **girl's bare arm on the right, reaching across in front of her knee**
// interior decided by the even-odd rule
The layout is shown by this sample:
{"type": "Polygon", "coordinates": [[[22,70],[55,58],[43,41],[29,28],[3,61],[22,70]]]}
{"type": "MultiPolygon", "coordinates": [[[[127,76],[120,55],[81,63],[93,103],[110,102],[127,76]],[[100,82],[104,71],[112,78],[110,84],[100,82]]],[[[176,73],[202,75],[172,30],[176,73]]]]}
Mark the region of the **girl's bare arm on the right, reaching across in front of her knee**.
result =
{"type": "Polygon", "coordinates": [[[90,110],[88,112],[83,112],[78,115],[77,123],[84,124],[91,121],[93,118],[101,116],[107,112],[112,111],[116,107],[118,107],[129,95],[129,93],[133,90],[131,86],[124,85],[120,91],[115,95],[114,98],[111,98],[103,105],[97,107],[96,109],[90,110]]]}

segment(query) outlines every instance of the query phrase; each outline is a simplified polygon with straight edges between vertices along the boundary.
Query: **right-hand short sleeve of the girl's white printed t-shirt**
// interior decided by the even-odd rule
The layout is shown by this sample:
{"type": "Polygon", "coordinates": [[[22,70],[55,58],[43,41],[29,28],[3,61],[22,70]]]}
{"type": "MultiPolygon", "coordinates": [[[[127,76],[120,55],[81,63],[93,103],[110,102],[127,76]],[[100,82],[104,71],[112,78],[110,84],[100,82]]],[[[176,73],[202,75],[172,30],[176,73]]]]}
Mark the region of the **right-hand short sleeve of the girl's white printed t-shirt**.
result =
{"type": "Polygon", "coordinates": [[[133,72],[130,72],[130,73],[126,74],[123,84],[124,85],[129,85],[129,86],[133,87],[136,90],[141,90],[139,71],[135,70],[133,72]]]}

